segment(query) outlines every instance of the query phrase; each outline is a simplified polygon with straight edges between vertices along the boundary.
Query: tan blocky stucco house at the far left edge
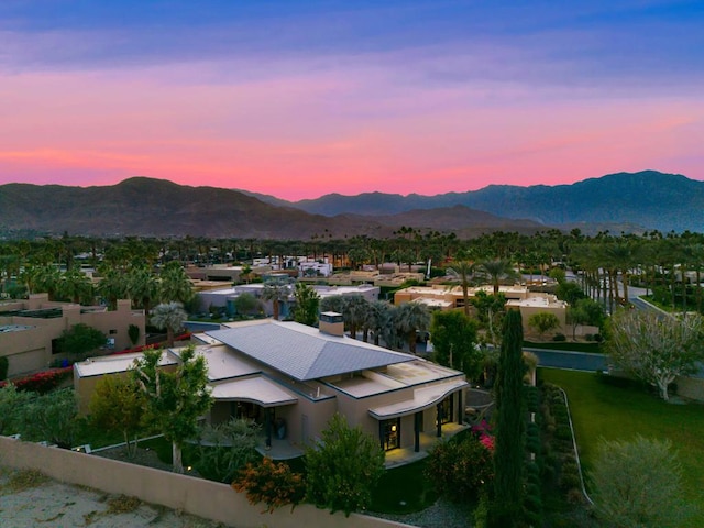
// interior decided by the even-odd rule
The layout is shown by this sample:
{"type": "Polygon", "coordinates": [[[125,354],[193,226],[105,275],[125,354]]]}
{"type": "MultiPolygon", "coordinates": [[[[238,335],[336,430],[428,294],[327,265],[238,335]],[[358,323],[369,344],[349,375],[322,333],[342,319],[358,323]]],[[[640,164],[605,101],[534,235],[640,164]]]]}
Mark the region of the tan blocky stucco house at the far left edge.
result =
{"type": "Polygon", "coordinates": [[[9,360],[9,375],[46,369],[53,360],[64,359],[56,340],[64,330],[84,323],[106,334],[107,350],[132,346],[128,329],[140,329],[136,344],[144,344],[144,310],[132,310],[129,299],[118,300],[118,309],[80,306],[48,300],[47,294],[30,295],[28,300],[0,302],[0,355],[9,360]]]}

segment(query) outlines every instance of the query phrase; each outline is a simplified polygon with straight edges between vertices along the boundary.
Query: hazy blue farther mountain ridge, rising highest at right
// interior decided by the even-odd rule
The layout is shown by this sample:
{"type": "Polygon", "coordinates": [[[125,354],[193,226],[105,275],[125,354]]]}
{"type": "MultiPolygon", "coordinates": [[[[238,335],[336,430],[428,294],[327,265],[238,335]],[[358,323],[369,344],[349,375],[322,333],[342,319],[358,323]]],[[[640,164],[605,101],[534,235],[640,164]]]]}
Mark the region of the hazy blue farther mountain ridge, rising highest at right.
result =
{"type": "MultiPolygon", "coordinates": [[[[283,202],[265,195],[255,196],[264,201],[283,202]]],[[[344,212],[387,215],[461,205],[504,218],[526,218],[558,228],[585,223],[640,226],[663,232],[704,231],[704,183],[657,170],[609,174],[571,185],[490,185],[474,191],[435,196],[330,194],[285,204],[324,216],[344,212]]]]}

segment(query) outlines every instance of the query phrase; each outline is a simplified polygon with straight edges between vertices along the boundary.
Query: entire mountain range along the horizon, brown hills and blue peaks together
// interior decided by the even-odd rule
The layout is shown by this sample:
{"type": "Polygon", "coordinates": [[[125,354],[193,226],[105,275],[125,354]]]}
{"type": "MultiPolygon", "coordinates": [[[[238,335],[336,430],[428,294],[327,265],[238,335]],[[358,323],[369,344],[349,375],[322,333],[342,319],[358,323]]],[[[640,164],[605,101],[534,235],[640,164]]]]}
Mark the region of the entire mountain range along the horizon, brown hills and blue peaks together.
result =
{"type": "Polygon", "coordinates": [[[0,233],[202,235],[307,240],[391,237],[400,227],[526,234],[551,228],[583,232],[702,231],[704,183],[654,170],[612,174],[572,185],[491,185],[436,196],[367,193],[289,202],[266,195],[189,187],[134,177],[113,186],[0,186],[0,233]]]}

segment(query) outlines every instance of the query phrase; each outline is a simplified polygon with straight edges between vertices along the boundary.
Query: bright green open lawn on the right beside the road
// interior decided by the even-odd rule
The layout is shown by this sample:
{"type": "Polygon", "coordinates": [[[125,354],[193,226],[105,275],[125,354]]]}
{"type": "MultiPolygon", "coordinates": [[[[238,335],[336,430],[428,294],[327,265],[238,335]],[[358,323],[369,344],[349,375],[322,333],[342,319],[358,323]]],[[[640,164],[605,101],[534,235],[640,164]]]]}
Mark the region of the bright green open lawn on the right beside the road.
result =
{"type": "Polygon", "coordinates": [[[704,526],[704,405],[664,403],[645,391],[600,382],[596,374],[539,369],[539,380],[566,393],[585,470],[600,438],[668,438],[679,452],[688,497],[700,507],[691,526],[704,526]]]}

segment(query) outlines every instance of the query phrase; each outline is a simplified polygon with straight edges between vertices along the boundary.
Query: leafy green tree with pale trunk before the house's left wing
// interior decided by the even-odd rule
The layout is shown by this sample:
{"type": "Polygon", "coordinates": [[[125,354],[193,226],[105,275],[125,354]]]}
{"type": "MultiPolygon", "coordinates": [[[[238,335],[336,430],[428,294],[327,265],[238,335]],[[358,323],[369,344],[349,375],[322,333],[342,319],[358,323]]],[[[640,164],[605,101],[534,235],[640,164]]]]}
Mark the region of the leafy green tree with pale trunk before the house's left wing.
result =
{"type": "Polygon", "coordinates": [[[183,473],[183,447],[198,436],[198,420],[212,405],[208,366],[193,345],[182,350],[175,372],[160,370],[161,358],[161,350],[147,350],[132,372],[146,396],[147,419],[172,442],[174,472],[183,473]]]}

